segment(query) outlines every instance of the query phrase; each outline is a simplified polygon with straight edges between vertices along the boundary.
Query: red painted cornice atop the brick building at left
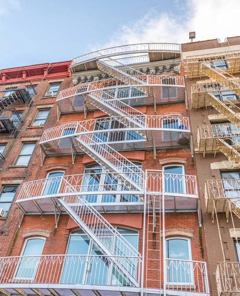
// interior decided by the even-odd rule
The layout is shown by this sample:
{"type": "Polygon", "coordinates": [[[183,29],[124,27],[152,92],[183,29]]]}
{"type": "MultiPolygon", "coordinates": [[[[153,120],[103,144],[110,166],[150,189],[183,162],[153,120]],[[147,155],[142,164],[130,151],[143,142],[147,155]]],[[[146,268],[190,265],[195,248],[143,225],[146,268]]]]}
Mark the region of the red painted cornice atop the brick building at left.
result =
{"type": "Polygon", "coordinates": [[[0,70],[0,82],[13,82],[32,80],[37,81],[42,78],[55,79],[60,77],[69,77],[69,66],[72,61],[57,63],[44,63],[0,70]]]}

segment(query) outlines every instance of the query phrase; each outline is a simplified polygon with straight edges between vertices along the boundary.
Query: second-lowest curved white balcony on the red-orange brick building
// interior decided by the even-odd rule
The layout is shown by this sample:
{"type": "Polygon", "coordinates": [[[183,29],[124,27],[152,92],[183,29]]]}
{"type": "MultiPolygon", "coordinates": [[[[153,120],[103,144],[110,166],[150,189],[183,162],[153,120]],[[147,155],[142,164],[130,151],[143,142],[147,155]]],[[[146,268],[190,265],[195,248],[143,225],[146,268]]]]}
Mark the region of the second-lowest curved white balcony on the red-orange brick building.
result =
{"type": "MultiPolygon", "coordinates": [[[[149,171],[146,178],[146,202],[152,207],[154,196],[162,195],[164,190],[165,211],[197,210],[195,176],[149,171]]],[[[66,213],[58,198],[67,198],[70,204],[77,204],[78,196],[82,196],[99,213],[141,213],[144,194],[144,177],[140,173],[92,173],[24,183],[16,203],[24,214],[66,213]],[[125,175],[142,189],[131,188],[125,175]]]]}

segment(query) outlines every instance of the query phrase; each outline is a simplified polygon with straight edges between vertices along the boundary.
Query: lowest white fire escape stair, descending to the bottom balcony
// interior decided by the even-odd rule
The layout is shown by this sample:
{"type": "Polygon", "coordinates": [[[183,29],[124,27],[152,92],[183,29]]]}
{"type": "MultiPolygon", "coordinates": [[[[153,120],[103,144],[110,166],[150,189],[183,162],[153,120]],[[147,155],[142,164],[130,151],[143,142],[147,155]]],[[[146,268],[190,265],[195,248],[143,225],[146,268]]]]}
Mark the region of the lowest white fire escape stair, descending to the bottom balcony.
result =
{"type": "MultiPolygon", "coordinates": [[[[76,189],[69,185],[69,192],[76,189]]],[[[126,284],[139,287],[137,278],[141,255],[129,244],[120,232],[99,214],[83,197],[58,198],[61,205],[81,229],[93,240],[104,255],[126,277],[126,284]]]]}

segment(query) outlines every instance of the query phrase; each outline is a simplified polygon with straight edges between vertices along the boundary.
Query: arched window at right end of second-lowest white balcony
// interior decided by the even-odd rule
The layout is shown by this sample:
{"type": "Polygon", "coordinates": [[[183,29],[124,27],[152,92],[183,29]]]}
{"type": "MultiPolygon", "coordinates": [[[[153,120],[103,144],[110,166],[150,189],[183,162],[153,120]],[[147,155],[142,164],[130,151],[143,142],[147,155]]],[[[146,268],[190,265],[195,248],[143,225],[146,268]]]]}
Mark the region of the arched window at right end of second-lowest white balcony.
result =
{"type": "Polygon", "coordinates": [[[185,193],[186,181],[183,165],[166,165],[164,171],[164,190],[172,193],[185,193]]]}

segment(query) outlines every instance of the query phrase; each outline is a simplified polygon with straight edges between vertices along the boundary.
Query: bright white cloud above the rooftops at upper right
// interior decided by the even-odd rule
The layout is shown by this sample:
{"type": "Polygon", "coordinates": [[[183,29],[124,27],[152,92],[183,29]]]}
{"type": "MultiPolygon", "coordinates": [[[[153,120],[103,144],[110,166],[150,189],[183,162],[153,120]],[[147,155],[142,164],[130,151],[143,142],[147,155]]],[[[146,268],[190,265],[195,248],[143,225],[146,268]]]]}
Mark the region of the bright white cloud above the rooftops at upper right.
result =
{"type": "Polygon", "coordinates": [[[178,15],[151,10],[144,17],[123,25],[104,44],[92,50],[143,42],[189,42],[189,32],[196,31],[196,41],[240,35],[240,0],[173,0],[178,15]],[[185,4],[185,5],[184,5],[185,4]]]}

